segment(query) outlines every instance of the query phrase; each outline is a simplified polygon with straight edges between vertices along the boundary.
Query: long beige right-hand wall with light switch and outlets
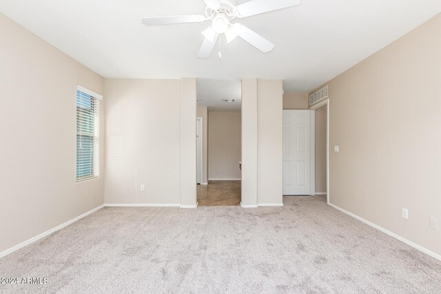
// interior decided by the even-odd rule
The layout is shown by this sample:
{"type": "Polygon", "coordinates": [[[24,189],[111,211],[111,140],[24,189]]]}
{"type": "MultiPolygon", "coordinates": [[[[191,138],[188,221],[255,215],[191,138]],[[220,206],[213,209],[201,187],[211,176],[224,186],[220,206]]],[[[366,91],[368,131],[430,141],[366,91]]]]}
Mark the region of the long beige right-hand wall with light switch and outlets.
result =
{"type": "Polygon", "coordinates": [[[329,82],[330,202],[438,255],[440,35],[438,14],[329,82]]]}

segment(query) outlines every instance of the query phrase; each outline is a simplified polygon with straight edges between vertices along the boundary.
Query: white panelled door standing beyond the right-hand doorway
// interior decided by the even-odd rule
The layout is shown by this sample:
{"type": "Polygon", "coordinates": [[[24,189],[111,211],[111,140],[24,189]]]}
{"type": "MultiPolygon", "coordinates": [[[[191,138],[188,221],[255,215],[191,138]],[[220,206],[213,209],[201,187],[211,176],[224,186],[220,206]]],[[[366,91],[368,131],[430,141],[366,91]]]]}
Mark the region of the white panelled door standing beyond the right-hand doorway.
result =
{"type": "Polygon", "coordinates": [[[283,195],[311,195],[311,117],[283,110],[283,195]]]}

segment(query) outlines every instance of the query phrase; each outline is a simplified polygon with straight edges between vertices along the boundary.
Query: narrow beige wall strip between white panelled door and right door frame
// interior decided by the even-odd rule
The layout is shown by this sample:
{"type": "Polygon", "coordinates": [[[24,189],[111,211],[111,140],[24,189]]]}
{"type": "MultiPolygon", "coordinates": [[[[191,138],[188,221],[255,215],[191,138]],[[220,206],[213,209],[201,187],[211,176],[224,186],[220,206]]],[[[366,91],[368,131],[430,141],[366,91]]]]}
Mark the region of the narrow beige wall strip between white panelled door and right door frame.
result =
{"type": "Polygon", "coordinates": [[[316,109],[316,193],[326,193],[327,105],[316,109]]]}

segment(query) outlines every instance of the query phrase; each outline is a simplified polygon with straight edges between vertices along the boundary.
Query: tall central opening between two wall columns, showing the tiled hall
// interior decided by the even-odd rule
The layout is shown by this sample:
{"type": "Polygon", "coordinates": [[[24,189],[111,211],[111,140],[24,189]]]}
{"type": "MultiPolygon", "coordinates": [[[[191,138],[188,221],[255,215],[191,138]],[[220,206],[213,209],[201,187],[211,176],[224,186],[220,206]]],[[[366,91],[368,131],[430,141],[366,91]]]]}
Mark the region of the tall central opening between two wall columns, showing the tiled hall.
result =
{"type": "Polygon", "coordinates": [[[240,81],[198,79],[196,192],[199,206],[240,204],[240,86],[240,81]]]}

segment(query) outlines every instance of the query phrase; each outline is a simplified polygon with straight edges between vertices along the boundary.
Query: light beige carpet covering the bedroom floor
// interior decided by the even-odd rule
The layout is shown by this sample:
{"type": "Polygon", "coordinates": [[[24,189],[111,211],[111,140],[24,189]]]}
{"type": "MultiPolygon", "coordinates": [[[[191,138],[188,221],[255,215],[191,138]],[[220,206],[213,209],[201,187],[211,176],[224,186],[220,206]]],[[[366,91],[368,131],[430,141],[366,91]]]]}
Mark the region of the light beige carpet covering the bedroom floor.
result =
{"type": "Polygon", "coordinates": [[[2,293],[440,293],[441,262],[328,207],[105,208],[0,260],[2,293]]]}

